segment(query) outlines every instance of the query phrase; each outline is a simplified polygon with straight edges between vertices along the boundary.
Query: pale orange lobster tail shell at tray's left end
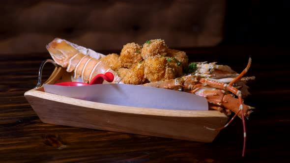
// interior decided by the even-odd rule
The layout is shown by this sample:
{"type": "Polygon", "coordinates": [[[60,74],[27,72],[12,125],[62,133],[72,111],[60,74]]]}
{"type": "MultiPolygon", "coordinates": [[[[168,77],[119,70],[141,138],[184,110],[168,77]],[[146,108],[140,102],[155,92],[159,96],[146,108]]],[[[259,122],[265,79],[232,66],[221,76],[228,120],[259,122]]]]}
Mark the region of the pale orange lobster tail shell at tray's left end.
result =
{"type": "Polygon", "coordinates": [[[122,83],[117,73],[100,60],[106,56],[104,54],[96,53],[60,38],[55,38],[46,48],[58,65],[66,68],[67,72],[74,72],[72,81],[81,78],[83,82],[88,83],[97,74],[111,72],[114,75],[113,82],[122,83]]]}

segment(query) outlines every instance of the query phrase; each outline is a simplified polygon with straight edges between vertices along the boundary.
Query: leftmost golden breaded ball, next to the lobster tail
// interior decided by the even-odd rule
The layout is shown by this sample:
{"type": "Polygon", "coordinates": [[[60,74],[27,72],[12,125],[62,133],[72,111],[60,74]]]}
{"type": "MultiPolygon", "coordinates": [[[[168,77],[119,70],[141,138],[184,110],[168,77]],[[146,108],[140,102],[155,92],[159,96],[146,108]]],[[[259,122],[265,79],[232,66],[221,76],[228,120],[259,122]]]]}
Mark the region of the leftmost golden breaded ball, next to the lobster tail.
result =
{"type": "Polygon", "coordinates": [[[114,71],[117,71],[121,66],[120,56],[116,53],[108,54],[101,58],[101,61],[106,63],[114,71]]]}

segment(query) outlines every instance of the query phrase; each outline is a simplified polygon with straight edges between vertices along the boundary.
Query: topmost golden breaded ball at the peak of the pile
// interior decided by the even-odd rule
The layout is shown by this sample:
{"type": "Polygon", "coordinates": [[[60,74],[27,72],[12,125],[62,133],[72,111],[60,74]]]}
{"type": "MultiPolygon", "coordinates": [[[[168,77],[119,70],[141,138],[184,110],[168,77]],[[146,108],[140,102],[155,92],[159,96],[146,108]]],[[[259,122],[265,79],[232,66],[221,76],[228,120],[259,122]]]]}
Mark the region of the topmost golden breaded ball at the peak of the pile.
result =
{"type": "Polygon", "coordinates": [[[168,46],[165,44],[164,40],[155,39],[146,41],[143,45],[141,55],[143,59],[147,59],[149,56],[161,55],[166,56],[168,46]]]}

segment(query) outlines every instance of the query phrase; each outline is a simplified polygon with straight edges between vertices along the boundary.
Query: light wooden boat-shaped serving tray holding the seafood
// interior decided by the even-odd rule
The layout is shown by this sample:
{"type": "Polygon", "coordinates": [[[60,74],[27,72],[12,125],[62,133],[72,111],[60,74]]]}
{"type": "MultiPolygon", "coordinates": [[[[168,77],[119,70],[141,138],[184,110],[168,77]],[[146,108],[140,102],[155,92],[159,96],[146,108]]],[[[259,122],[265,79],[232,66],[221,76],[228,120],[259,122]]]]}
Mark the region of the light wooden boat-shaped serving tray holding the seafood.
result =
{"type": "MultiPolygon", "coordinates": [[[[57,67],[45,82],[70,81],[70,74],[57,67]]],[[[43,86],[25,92],[43,123],[115,131],[147,136],[212,142],[228,117],[216,110],[147,109],[103,104],[44,92],[43,86]]]]}

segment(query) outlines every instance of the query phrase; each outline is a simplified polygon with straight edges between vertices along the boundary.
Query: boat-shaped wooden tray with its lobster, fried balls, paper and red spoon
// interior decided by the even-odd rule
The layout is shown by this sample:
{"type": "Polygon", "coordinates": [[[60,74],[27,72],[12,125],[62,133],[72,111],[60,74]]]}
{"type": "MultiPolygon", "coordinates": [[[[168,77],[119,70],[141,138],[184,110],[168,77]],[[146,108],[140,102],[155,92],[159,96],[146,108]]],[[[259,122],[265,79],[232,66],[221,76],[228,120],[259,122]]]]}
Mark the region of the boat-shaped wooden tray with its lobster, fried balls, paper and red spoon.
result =
{"type": "Polygon", "coordinates": [[[120,54],[61,38],[46,48],[52,58],[42,62],[37,86],[24,94],[43,123],[212,142],[237,117],[244,155],[245,120],[254,109],[243,101],[250,94],[247,81],[255,79],[245,77],[251,58],[237,73],[216,62],[189,62],[162,39],[127,43],[120,54]],[[42,84],[47,62],[56,68],[42,84]]]}

